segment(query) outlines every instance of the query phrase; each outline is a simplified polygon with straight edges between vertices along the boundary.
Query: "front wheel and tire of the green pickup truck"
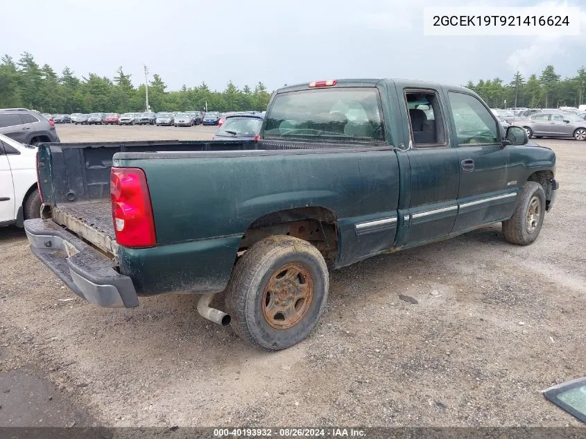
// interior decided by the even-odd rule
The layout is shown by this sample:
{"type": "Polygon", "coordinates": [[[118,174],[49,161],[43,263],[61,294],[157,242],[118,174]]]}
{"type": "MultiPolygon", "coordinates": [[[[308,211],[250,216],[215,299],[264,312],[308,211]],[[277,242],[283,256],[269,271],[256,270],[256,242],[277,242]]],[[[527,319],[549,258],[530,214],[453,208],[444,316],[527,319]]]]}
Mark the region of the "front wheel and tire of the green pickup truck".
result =
{"type": "Polygon", "coordinates": [[[506,221],[503,221],[503,234],[507,242],[519,246],[528,246],[540,234],[545,218],[545,191],[537,182],[526,182],[517,198],[517,209],[506,221]],[[535,204],[538,218],[531,215],[535,204]]]}

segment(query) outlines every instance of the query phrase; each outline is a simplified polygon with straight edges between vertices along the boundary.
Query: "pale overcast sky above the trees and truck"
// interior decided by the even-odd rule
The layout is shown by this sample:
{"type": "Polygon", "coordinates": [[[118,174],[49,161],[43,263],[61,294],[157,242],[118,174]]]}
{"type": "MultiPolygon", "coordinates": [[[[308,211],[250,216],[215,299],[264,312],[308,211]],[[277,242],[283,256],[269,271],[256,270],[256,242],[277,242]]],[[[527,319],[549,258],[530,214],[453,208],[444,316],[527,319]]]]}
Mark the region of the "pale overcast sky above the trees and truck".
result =
{"type": "MultiPolygon", "coordinates": [[[[544,2],[562,3],[562,2],[544,2]]],[[[574,76],[586,64],[586,0],[579,37],[424,37],[425,0],[28,0],[2,1],[0,53],[23,51],[57,71],[112,78],[119,66],[144,81],[143,64],[169,89],[228,80],[269,90],[329,78],[411,78],[456,85],[509,82],[553,64],[574,76]]],[[[535,6],[538,1],[469,1],[535,6]]]]}

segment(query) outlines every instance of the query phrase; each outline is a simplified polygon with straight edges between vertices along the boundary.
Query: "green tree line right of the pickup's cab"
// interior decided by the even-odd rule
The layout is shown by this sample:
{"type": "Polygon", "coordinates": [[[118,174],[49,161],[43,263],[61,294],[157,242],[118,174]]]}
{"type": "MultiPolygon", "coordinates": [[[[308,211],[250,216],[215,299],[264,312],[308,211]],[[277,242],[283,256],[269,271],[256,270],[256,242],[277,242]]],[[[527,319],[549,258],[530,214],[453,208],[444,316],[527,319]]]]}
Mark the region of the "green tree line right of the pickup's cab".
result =
{"type": "Polygon", "coordinates": [[[573,78],[562,79],[548,65],[539,76],[525,79],[517,72],[510,83],[501,78],[471,80],[465,87],[474,90],[490,107],[578,107],[586,102],[586,69],[580,67],[573,78]]]}

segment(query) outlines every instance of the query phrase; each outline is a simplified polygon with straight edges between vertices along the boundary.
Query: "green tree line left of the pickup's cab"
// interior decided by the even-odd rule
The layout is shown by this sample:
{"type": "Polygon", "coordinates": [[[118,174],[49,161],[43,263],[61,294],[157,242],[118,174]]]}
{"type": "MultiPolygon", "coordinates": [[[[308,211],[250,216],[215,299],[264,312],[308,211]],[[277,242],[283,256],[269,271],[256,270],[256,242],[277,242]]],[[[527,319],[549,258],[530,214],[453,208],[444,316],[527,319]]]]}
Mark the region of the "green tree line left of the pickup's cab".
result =
{"type": "MultiPolygon", "coordinates": [[[[122,67],[110,79],[90,73],[78,78],[69,67],[60,75],[44,64],[35,62],[28,52],[18,61],[4,55],[0,62],[0,108],[25,107],[51,114],[91,112],[139,112],[146,107],[145,85],[132,85],[122,67]]],[[[205,82],[196,87],[183,85],[180,90],[168,89],[162,78],[153,74],[148,84],[148,103],[159,111],[245,111],[266,110],[270,93],[259,82],[254,89],[239,89],[230,81],[223,92],[209,89],[205,82]]]]}

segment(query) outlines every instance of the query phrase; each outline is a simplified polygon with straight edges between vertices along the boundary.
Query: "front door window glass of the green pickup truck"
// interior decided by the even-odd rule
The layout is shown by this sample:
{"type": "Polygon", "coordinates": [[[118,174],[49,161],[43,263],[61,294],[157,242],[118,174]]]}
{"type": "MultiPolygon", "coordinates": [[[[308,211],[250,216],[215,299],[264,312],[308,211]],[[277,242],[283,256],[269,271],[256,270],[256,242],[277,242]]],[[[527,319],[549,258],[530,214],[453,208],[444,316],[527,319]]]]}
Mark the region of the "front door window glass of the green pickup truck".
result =
{"type": "Polygon", "coordinates": [[[449,92],[458,145],[497,144],[497,121],[483,103],[470,94],[449,92]]]}

